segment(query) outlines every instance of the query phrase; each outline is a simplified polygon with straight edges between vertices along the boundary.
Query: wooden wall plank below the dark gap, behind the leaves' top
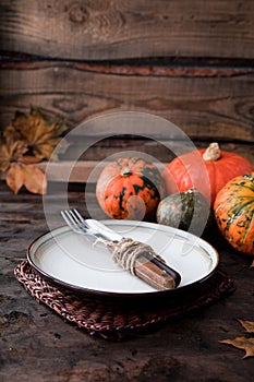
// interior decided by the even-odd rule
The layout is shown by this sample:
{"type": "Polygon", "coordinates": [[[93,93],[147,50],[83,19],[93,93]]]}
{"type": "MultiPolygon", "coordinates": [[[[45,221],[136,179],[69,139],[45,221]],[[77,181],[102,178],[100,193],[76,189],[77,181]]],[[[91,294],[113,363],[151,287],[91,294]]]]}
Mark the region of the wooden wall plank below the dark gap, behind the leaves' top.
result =
{"type": "MultiPolygon", "coordinates": [[[[4,63],[0,82],[1,126],[29,105],[63,116],[71,128],[109,112],[142,111],[168,119],[194,140],[254,142],[254,76],[249,70],[181,77],[98,73],[64,62],[4,63]]],[[[95,127],[87,136],[101,132],[95,127]]],[[[117,132],[130,133],[121,126],[117,132]]],[[[158,138],[168,139],[167,133],[158,138]]]]}

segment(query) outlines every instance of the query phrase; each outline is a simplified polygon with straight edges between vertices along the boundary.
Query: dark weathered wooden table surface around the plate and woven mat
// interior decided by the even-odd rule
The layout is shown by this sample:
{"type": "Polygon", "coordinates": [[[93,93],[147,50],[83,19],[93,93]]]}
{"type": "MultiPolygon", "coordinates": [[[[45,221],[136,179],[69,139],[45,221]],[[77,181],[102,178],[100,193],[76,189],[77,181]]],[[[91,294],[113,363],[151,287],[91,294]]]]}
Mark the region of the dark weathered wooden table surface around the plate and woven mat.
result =
{"type": "MultiPolygon", "coordinates": [[[[208,240],[219,251],[220,267],[234,279],[235,291],[129,341],[109,342],[64,322],[15,279],[13,271],[25,259],[27,247],[48,226],[41,196],[25,191],[13,195],[3,182],[0,187],[2,382],[253,381],[253,357],[243,359],[243,350],[219,341],[245,335],[238,319],[254,321],[254,268],[216,230],[208,240]]],[[[52,216],[59,214],[61,187],[49,198],[52,216]]],[[[69,202],[88,214],[84,191],[70,192],[69,202]]]]}

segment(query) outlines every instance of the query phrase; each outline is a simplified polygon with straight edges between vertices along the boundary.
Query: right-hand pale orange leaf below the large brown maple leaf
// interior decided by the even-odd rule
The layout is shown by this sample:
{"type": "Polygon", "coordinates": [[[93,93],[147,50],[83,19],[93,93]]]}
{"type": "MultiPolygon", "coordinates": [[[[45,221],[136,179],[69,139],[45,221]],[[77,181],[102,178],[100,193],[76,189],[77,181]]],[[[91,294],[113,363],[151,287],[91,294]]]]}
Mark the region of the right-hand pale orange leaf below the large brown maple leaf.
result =
{"type": "Polygon", "coordinates": [[[34,165],[23,165],[25,175],[24,186],[29,192],[44,195],[47,190],[47,180],[45,174],[34,165]]]}

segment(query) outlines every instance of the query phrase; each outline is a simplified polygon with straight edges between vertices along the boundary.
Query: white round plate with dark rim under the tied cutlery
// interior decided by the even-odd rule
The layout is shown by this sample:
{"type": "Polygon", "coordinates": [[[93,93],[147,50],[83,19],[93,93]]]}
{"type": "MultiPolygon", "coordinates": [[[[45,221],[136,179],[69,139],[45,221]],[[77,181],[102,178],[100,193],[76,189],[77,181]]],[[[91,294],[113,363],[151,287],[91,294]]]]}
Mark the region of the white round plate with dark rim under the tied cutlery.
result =
{"type": "MultiPolygon", "coordinates": [[[[181,275],[173,293],[202,283],[215,272],[219,256],[205,240],[164,225],[131,220],[105,220],[108,227],[125,237],[147,242],[169,266],[181,275]]],[[[44,277],[76,291],[109,296],[164,294],[123,271],[113,263],[107,248],[93,246],[90,236],[60,227],[36,239],[27,259],[44,277]]]]}

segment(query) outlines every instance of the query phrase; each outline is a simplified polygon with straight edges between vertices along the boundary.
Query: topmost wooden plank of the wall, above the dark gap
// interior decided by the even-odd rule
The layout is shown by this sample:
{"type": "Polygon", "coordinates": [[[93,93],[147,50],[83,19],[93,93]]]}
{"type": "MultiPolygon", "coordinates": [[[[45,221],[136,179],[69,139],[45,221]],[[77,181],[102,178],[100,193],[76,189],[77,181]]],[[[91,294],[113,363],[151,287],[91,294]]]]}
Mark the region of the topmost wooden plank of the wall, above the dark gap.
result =
{"type": "Polygon", "coordinates": [[[252,0],[3,0],[1,49],[51,58],[254,57],[252,0]]]}

